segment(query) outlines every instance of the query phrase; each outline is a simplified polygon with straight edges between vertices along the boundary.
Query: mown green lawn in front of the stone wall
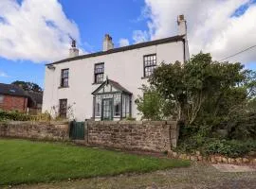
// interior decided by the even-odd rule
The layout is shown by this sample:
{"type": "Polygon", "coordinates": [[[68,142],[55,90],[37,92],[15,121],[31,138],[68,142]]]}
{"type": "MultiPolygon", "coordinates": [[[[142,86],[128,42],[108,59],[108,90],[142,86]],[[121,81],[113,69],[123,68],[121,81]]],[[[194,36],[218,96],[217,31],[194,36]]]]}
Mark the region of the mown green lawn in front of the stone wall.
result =
{"type": "Polygon", "coordinates": [[[70,144],[0,139],[0,185],[147,172],[189,164],[70,144]]]}

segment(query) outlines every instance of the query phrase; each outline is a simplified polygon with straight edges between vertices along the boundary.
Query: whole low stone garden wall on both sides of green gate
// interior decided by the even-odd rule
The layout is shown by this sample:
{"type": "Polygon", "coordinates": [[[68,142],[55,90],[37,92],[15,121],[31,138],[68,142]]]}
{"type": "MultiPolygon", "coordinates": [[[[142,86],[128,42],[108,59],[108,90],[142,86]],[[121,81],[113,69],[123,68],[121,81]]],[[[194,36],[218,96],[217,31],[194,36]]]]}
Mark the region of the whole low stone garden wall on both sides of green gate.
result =
{"type": "MultiPolygon", "coordinates": [[[[0,137],[41,140],[69,140],[66,122],[0,123],[0,137]]],[[[84,140],[91,146],[107,146],[129,150],[168,151],[176,146],[175,121],[86,121],[84,140]]]]}

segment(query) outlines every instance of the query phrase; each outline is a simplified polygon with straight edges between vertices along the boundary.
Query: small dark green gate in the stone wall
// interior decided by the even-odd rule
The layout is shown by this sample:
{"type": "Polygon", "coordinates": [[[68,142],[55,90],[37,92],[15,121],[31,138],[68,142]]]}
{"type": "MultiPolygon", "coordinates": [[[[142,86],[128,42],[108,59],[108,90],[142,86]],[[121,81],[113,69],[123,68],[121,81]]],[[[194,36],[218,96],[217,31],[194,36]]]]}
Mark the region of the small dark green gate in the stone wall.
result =
{"type": "Polygon", "coordinates": [[[70,122],[69,137],[72,140],[84,140],[84,122],[70,122]]]}

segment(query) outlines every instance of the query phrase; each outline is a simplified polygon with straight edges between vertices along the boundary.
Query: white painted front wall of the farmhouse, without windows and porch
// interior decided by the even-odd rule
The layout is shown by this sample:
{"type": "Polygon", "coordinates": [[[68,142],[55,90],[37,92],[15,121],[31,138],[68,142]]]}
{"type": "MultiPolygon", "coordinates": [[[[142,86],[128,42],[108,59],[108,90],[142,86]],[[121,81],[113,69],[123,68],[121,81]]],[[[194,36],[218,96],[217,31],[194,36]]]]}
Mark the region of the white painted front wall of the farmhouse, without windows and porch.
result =
{"type": "MultiPolygon", "coordinates": [[[[100,85],[94,81],[94,64],[104,62],[104,78],[106,76],[119,82],[124,88],[133,93],[132,116],[137,119],[135,99],[141,94],[138,89],[147,80],[143,79],[143,56],[156,53],[157,64],[184,60],[183,42],[163,43],[134,50],[128,50],[83,60],[72,60],[54,64],[55,70],[46,66],[45,92],[43,112],[50,112],[52,106],[59,106],[59,99],[67,98],[67,104],[73,105],[73,112],[78,121],[93,116],[93,95],[91,94],[100,85]],[[60,88],[61,70],[69,68],[69,88],[60,88]]],[[[186,58],[187,59],[187,58],[186,58]]]]}

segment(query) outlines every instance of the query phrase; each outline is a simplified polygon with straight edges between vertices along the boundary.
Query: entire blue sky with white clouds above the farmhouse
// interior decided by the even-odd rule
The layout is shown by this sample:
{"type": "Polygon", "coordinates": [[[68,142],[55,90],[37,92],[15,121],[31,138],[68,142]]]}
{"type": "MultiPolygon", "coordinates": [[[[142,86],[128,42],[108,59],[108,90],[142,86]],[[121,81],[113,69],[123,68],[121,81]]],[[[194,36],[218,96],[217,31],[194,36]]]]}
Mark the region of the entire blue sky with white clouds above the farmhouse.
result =
{"type": "MultiPolygon", "coordinates": [[[[188,18],[191,54],[203,49],[204,51],[212,52],[213,58],[217,60],[247,48],[253,44],[251,42],[253,39],[255,39],[254,43],[256,43],[256,35],[254,34],[256,33],[256,26],[253,26],[253,22],[247,19],[251,17],[255,21],[256,1],[233,0],[224,4],[223,1],[210,0],[208,3],[202,3],[200,7],[196,5],[196,2],[192,4],[184,4],[183,2],[180,5],[174,2],[175,0],[19,0],[16,2],[18,6],[21,6],[19,11],[8,9],[9,11],[2,11],[4,13],[1,14],[1,4],[2,10],[3,7],[6,7],[5,4],[10,4],[13,7],[17,6],[14,5],[15,1],[14,3],[10,2],[10,0],[1,1],[0,24],[2,22],[2,24],[9,23],[9,25],[13,25],[12,30],[3,27],[2,30],[6,33],[2,40],[3,42],[14,43],[15,49],[13,48],[13,54],[11,54],[11,48],[1,48],[1,45],[6,46],[8,43],[0,43],[0,82],[10,83],[14,80],[25,80],[36,82],[43,87],[45,63],[65,58],[65,53],[68,53],[67,45],[69,41],[67,40],[67,32],[68,34],[71,33],[79,41],[81,50],[87,53],[96,52],[101,51],[101,43],[105,33],[111,34],[115,46],[119,46],[120,39],[125,39],[131,44],[174,35],[176,33],[176,15],[180,13],[184,13],[185,17],[188,18]],[[37,5],[39,3],[41,4],[37,5]],[[51,8],[50,10],[52,11],[46,11],[43,4],[46,6],[45,8],[51,8]],[[215,24],[213,20],[214,14],[212,14],[213,18],[206,16],[206,19],[213,25],[209,26],[205,22],[207,20],[200,20],[196,11],[194,11],[194,9],[202,9],[202,12],[204,13],[205,11],[207,15],[207,11],[212,6],[215,6],[216,9],[219,7],[216,16],[221,15],[223,20],[220,20],[220,22],[227,22],[229,26],[215,24]],[[29,9],[35,9],[36,11],[33,12],[29,9]],[[40,16],[37,17],[37,13],[41,10],[40,16]],[[52,14],[52,12],[56,13],[52,14]],[[9,20],[13,18],[11,15],[16,15],[18,18],[19,15],[24,15],[24,13],[28,15],[31,22],[27,23],[27,21],[17,19],[12,23],[9,20]],[[44,25],[38,25],[37,28],[33,28],[34,23],[40,23],[41,21],[36,20],[36,18],[46,18],[47,22],[51,24],[49,29],[52,29],[58,35],[59,40],[58,45],[56,44],[56,50],[54,50],[54,43],[51,44],[51,48],[47,46],[47,43],[52,41],[51,38],[46,38],[47,34],[52,34],[52,31],[47,33],[47,26],[47,30],[42,28],[44,25]],[[21,27],[19,23],[22,22],[27,26],[21,27]],[[33,24],[31,25],[31,23],[33,24]],[[245,24],[247,28],[240,29],[239,26],[242,24],[245,24]],[[233,26],[233,28],[230,29],[230,26],[233,26]],[[55,27],[59,30],[56,31],[55,27]],[[44,31],[41,31],[41,29],[44,31]],[[251,31],[253,29],[254,33],[251,31]],[[19,33],[21,30],[24,31],[19,33]],[[12,32],[9,31],[17,31],[17,33],[13,32],[13,35],[16,36],[12,38],[12,32]],[[35,33],[40,34],[37,36],[35,33]],[[222,33],[222,35],[219,35],[219,33],[222,33]],[[199,34],[200,37],[198,37],[199,34]],[[19,35],[22,38],[21,42],[19,42],[19,35]],[[248,36],[250,40],[241,42],[241,38],[245,36],[248,36]],[[216,40],[219,38],[223,38],[221,43],[216,40]],[[26,42],[29,42],[29,46],[27,46],[26,42]],[[47,48],[55,52],[48,52],[47,48]],[[1,49],[3,49],[2,53],[1,49]],[[30,54],[27,54],[27,49],[29,49],[30,54]],[[57,52],[59,51],[60,55],[58,56],[57,52]]],[[[23,19],[22,16],[21,19],[23,19]]],[[[256,25],[255,22],[254,25],[256,25]]],[[[256,51],[255,49],[250,51],[230,61],[242,61],[247,64],[247,68],[256,69],[256,51]]]]}

